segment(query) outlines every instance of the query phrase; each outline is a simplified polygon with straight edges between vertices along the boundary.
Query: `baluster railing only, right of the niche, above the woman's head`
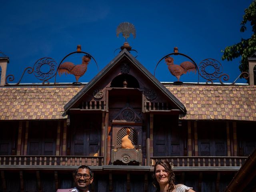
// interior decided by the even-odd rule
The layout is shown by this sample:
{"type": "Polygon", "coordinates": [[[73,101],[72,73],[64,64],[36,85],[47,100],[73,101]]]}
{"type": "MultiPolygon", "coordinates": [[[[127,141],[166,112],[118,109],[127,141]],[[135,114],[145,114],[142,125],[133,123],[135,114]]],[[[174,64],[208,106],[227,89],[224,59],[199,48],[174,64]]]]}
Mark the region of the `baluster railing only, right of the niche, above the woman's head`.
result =
{"type": "Polygon", "coordinates": [[[168,160],[175,167],[223,167],[242,166],[247,157],[224,157],[224,156],[168,156],[150,158],[150,166],[154,166],[157,161],[168,160]]]}

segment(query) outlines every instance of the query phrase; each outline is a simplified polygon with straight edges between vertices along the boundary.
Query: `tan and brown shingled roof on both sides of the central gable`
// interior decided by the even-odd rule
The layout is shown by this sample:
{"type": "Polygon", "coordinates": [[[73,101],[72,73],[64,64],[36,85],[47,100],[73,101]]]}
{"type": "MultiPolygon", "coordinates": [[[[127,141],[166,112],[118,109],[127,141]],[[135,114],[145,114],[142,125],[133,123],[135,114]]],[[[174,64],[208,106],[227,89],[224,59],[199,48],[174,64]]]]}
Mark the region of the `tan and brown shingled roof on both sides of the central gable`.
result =
{"type": "MultiPolygon", "coordinates": [[[[165,85],[184,104],[185,120],[256,121],[256,86],[165,85]]],[[[64,105],[83,86],[0,87],[0,120],[65,119],[64,105]]]]}

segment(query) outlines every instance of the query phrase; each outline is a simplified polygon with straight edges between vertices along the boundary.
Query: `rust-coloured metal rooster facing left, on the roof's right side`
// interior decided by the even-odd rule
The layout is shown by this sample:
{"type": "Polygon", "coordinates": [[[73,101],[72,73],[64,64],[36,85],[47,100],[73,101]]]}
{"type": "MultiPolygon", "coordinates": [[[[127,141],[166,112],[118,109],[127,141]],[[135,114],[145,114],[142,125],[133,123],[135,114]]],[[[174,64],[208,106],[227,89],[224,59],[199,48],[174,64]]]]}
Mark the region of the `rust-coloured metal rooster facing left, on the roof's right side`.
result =
{"type": "Polygon", "coordinates": [[[184,61],[180,65],[174,64],[174,59],[172,57],[165,58],[165,62],[168,65],[168,69],[173,76],[176,76],[178,81],[180,76],[186,74],[187,72],[194,71],[196,73],[196,66],[192,62],[184,61]]]}

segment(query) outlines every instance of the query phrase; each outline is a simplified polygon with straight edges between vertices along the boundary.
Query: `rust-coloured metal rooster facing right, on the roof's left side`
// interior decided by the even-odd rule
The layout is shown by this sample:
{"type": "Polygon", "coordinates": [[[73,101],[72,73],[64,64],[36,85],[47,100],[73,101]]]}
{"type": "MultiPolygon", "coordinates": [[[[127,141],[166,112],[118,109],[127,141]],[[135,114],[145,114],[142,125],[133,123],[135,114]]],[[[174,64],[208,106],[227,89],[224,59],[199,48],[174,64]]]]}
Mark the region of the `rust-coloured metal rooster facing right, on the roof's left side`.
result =
{"type": "Polygon", "coordinates": [[[82,64],[75,65],[72,62],[64,62],[58,68],[59,75],[65,73],[65,75],[73,74],[76,77],[76,81],[84,75],[87,70],[87,65],[89,64],[91,57],[88,55],[83,56],[82,64]]]}

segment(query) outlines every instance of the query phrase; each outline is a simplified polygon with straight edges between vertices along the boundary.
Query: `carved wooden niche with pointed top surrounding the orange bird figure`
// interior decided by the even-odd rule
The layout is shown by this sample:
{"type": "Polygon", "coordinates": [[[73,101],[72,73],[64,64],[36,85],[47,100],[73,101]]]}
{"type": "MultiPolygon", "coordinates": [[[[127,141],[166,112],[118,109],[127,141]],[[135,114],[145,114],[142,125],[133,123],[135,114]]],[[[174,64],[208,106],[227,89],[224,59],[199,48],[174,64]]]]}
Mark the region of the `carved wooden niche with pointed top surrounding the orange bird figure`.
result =
{"type": "Polygon", "coordinates": [[[141,165],[142,118],[140,115],[132,107],[125,106],[112,120],[112,130],[111,164],[141,165]],[[132,142],[133,149],[122,148],[122,138],[126,135],[132,142]]]}

